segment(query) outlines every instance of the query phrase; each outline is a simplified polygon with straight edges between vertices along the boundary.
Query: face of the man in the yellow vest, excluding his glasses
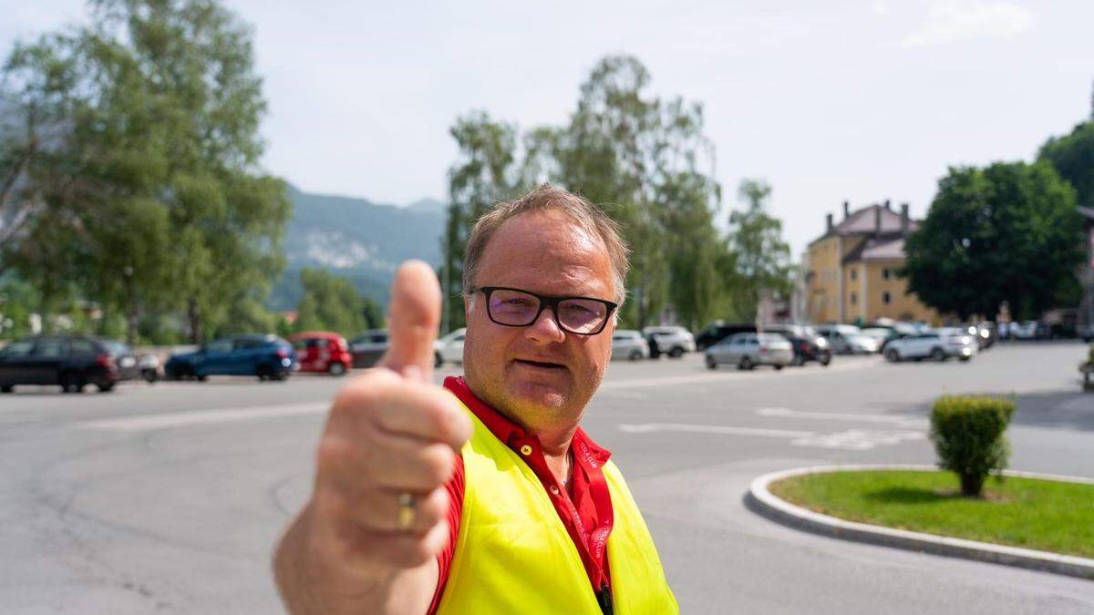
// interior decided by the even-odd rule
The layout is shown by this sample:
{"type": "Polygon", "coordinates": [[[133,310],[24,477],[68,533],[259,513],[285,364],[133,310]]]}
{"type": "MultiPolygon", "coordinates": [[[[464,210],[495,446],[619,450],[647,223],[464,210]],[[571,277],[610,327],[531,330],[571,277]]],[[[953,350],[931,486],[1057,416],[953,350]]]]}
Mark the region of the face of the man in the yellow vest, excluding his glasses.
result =
{"type": "MultiPolygon", "coordinates": [[[[484,251],[476,287],[615,300],[604,243],[558,211],[505,221],[484,251]]],[[[612,357],[614,317],[597,335],[562,330],[550,309],[526,327],[508,327],[490,320],[481,292],[465,311],[464,372],[476,395],[534,431],[581,418],[612,357]]]]}

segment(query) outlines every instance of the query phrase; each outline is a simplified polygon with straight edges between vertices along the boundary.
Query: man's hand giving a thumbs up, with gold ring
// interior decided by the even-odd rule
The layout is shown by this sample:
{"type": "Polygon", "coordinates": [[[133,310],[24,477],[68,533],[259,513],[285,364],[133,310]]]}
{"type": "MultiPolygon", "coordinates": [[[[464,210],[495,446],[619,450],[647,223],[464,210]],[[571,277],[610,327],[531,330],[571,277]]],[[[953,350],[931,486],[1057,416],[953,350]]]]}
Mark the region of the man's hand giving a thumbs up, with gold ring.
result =
{"type": "Polygon", "coordinates": [[[275,572],[290,612],[424,613],[449,539],[444,484],[470,421],[432,384],[437,276],[399,267],[381,369],[338,394],[316,453],[311,500],[281,539],[275,572]],[[414,512],[400,513],[409,495],[414,512]]]}

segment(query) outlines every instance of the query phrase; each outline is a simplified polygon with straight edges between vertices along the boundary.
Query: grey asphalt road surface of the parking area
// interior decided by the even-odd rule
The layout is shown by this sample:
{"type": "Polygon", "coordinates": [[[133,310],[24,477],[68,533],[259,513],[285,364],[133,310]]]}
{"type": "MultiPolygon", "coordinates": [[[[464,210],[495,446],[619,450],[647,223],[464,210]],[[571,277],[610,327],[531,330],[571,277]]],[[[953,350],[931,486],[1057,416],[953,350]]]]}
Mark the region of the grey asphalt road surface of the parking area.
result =
{"type": "MultiPolygon", "coordinates": [[[[684,613],[1094,613],[1094,582],[814,536],[742,502],[776,469],[931,463],[927,409],[943,393],[1015,395],[1011,467],[1094,477],[1084,353],[1026,345],[778,373],[709,372],[698,355],[622,362],[584,426],[628,477],[684,613]]],[[[281,612],[271,548],[307,496],[342,382],[0,397],[0,612],[281,612]]]]}

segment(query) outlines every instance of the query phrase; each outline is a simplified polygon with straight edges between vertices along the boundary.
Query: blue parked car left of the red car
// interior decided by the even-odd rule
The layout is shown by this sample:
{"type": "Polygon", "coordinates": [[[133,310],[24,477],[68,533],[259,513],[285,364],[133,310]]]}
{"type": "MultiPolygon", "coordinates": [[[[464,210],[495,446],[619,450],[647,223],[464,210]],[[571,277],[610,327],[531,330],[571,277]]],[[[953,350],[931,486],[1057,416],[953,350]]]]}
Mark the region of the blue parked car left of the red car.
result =
{"type": "Polygon", "coordinates": [[[256,375],[284,380],[296,367],[292,345],[276,335],[236,335],[211,341],[194,352],[172,355],[163,367],[168,380],[205,380],[210,375],[256,375]]]}

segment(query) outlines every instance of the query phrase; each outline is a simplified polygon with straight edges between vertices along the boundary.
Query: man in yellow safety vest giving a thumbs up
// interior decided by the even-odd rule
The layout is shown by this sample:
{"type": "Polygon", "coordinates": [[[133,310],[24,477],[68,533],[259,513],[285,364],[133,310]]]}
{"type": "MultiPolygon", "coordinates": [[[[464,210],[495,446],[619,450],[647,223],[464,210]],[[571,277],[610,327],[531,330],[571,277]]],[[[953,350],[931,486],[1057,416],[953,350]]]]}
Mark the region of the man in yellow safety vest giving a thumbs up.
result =
{"type": "Polygon", "coordinates": [[[289,611],[677,613],[619,471],[579,427],[625,297],[616,225],[544,186],[476,223],[464,269],[465,376],[444,388],[437,278],[397,271],[391,349],[335,399],[275,556],[289,611]]]}

